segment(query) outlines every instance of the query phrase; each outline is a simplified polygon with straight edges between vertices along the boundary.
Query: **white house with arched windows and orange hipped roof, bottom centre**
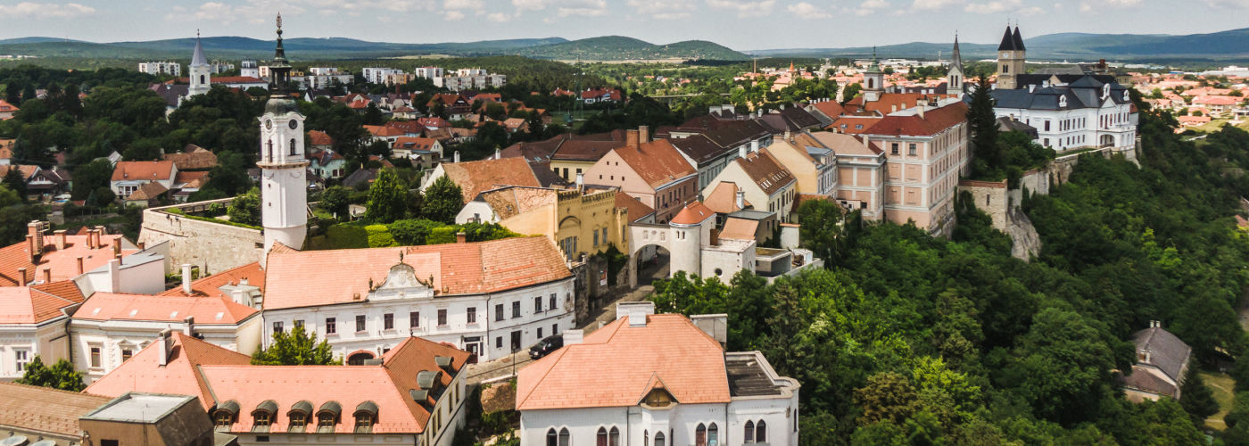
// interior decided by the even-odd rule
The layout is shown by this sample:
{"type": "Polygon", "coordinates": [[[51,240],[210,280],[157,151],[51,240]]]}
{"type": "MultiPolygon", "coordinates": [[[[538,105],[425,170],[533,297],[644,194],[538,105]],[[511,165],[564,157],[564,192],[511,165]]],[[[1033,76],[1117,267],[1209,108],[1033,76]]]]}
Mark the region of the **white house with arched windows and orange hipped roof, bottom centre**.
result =
{"type": "Polygon", "coordinates": [[[798,445],[798,381],[757,351],[726,352],[724,315],[631,304],[521,369],[523,445],[798,445]]]}

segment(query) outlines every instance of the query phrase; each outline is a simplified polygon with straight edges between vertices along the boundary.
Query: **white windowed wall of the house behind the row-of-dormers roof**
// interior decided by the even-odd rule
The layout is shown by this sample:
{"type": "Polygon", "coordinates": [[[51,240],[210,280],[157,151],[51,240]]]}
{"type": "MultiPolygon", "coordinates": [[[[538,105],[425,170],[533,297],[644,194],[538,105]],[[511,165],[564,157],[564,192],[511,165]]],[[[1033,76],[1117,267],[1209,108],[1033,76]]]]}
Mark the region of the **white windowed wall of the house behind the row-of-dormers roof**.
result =
{"type": "MultiPolygon", "coordinates": [[[[80,310],[87,311],[87,310],[80,310]]],[[[194,332],[204,336],[204,341],[237,351],[244,355],[256,352],[260,346],[260,314],[255,314],[237,325],[194,324],[194,332]]],[[[186,332],[185,322],[165,321],[96,321],[75,319],[70,321],[70,354],[74,370],[82,372],[82,382],[91,384],[117,369],[124,361],[125,351],[137,355],[140,350],[156,340],[165,329],[186,332]],[[92,349],[99,349],[99,360],[92,362],[92,349]]]]}

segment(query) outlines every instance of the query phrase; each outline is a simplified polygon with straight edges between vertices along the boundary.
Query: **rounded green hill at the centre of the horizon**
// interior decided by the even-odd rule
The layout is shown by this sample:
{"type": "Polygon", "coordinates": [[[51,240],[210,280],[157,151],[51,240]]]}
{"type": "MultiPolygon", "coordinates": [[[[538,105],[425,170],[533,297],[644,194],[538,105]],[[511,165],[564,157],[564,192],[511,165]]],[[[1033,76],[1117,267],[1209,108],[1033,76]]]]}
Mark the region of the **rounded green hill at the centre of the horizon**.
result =
{"type": "Polygon", "coordinates": [[[515,54],[538,59],[582,60],[646,60],[646,59],[717,59],[746,60],[744,54],[706,40],[687,40],[654,45],[626,36],[602,36],[555,45],[530,46],[515,54]]]}

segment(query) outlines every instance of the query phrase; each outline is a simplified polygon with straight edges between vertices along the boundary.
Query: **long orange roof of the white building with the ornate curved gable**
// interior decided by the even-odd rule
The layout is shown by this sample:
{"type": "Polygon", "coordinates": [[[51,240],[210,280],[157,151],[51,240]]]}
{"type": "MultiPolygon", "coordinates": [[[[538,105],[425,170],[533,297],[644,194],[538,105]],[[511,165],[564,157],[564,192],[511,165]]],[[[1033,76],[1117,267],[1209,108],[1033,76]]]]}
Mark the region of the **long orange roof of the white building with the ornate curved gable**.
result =
{"type": "Polygon", "coordinates": [[[370,284],[385,282],[400,255],[417,277],[433,279],[436,296],[498,292],[571,276],[563,256],[542,236],[406,247],[272,251],[266,265],[265,310],[352,302],[357,294],[366,299],[370,284]],[[353,265],[353,271],[309,274],[341,270],[342,265],[353,265]]]}

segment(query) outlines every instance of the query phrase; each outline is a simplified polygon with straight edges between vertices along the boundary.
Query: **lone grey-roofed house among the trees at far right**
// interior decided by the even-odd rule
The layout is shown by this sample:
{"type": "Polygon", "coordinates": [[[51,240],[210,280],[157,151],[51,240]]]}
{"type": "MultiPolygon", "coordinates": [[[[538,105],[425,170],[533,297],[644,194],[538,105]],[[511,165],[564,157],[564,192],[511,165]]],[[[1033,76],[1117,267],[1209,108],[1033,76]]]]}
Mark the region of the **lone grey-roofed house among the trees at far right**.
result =
{"type": "Polygon", "coordinates": [[[1137,347],[1137,360],[1132,372],[1123,377],[1128,400],[1140,402],[1164,396],[1179,400],[1193,349],[1159,321],[1149,321],[1148,329],[1133,334],[1132,344],[1137,347]]]}

